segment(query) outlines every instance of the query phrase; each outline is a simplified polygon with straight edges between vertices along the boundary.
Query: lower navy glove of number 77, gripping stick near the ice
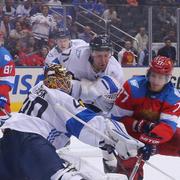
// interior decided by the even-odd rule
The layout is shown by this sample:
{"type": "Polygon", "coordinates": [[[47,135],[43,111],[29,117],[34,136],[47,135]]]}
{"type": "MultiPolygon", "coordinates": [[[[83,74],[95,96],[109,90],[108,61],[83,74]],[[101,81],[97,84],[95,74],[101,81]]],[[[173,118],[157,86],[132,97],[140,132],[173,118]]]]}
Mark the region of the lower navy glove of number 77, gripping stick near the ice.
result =
{"type": "Polygon", "coordinates": [[[138,150],[138,154],[142,154],[142,158],[147,161],[149,160],[150,156],[154,155],[156,153],[156,146],[146,144],[144,147],[140,148],[138,150]]]}

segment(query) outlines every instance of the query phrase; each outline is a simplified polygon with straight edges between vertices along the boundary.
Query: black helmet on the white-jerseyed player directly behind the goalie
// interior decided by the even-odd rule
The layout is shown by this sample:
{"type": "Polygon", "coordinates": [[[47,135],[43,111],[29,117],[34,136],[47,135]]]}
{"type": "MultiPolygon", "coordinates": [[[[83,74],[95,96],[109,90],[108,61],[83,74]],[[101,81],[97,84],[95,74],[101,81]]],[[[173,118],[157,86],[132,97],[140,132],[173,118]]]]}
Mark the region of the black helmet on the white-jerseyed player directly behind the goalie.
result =
{"type": "Polygon", "coordinates": [[[107,35],[98,35],[90,41],[90,47],[92,50],[103,51],[112,50],[112,43],[107,35]]]}

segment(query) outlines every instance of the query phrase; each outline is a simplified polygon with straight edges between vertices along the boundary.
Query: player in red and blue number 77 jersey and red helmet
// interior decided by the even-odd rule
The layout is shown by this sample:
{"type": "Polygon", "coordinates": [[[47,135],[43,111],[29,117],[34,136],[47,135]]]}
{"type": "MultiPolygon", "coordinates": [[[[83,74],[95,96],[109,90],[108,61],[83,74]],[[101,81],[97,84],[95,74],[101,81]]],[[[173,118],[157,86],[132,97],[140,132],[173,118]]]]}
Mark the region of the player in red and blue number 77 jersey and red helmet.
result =
{"type": "MultiPolygon", "coordinates": [[[[146,144],[144,160],[153,154],[180,156],[180,93],[171,83],[173,63],[155,57],[146,76],[135,76],[123,85],[111,115],[122,122],[127,132],[146,144]]],[[[120,160],[119,172],[132,172],[136,158],[120,160]],[[126,170],[126,171],[125,171],[126,170]]],[[[143,179],[143,163],[135,180],[143,179]]]]}

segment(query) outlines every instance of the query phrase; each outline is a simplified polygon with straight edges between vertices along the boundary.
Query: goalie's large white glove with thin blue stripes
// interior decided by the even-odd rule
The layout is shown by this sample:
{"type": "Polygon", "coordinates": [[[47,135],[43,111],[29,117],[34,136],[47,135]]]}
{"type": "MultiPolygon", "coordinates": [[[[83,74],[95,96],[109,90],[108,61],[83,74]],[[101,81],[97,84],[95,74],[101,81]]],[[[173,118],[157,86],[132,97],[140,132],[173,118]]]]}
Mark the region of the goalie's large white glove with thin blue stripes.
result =
{"type": "Polygon", "coordinates": [[[106,126],[105,134],[110,137],[114,143],[106,140],[101,141],[100,148],[103,150],[107,150],[109,153],[115,150],[121,158],[128,159],[135,157],[138,149],[144,146],[143,143],[132,138],[127,133],[122,123],[106,119],[106,126]]]}

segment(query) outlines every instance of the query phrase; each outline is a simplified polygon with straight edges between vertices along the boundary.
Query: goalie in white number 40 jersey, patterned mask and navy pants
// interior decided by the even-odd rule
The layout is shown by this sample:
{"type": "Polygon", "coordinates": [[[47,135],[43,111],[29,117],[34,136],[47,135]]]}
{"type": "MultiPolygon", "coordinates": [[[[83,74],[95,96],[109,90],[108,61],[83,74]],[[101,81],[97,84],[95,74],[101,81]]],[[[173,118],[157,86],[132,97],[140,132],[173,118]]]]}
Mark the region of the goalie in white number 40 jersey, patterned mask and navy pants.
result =
{"type": "Polygon", "coordinates": [[[136,156],[144,144],[131,138],[121,123],[97,116],[70,96],[71,76],[61,65],[50,65],[44,73],[44,81],[30,90],[20,112],[13,114],[2,126],[1,179],[86,179],[80,172],[65,166],[56,153],[56,149],[66,145],[71,135],[95,147],[108,145],[125,159],[136,156]],[[58,106],[81,118],[114,143],[107,142],[58,106]]]}

